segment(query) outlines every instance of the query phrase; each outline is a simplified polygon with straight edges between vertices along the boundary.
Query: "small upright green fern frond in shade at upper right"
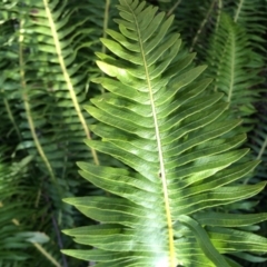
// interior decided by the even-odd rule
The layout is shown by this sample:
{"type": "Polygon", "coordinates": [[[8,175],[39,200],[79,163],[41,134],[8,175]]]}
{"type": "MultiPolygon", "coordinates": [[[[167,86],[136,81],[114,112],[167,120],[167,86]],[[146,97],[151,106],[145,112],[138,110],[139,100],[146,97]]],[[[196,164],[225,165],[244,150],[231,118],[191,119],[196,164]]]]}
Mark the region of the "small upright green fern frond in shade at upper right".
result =
{"type": "Polygon", "coordinates": [[[256,112],[258,90],[254,89],[263,79],[258,69],[251,68],[251,50],[246,32],[226,13],[221,14],[218,30],[215,32],[208,52],[209,71],[215,81],[212,89],[226,95],[234,118],[243,118],[248,130],[256,112]]]}

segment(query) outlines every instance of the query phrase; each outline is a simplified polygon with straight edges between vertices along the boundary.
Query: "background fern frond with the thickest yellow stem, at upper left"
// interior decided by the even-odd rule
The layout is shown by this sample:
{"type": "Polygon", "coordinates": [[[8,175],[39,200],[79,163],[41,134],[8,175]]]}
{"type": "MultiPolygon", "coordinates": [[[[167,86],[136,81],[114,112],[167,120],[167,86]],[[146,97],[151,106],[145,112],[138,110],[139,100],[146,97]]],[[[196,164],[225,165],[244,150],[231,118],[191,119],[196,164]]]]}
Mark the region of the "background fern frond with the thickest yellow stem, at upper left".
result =
{"type": "MultiPolygon", "coordinates": [[[[82,49],[81,43],[89,46],[90,40],[86,40],[83,28],[80,28],[82,20],[73,23],[73,19],[70,24],[70,18],[76,16],[78,7],[69,6],[68,1],[28,1],[27,3],[31,16],[26,29],[29,28],[36,36],[33,39],[31,34],[27,40],[27,47],[31,47],[30,61],[37,70],[36,86],[51,98],[46,100],[50,103],[47,108],[47,121],[51,125],[51,129],[57,128],[57,132],[52,132],[52,144],[48,140],[50,146],[55,146],[50,147],[53,157],[48,158],[52,159],[56,168],[60,168],[62,159],[67,160],[65,166],[68,166],[72,165],[72,157],[88,157],[79,145],[83,138],[90,138],[86,122],[88,117],[86,118],[81,109],[87,95],[88,58],[82,58],[79,50],[82,49]],[[36,58],[37,60],[33,60],[36,58]]],[[[87,18],[83,20],[86,21],[87,18]]],[[[90,30],[87,34],[90,34],[90,30]]],[[[41,101],[42,97],[38,96],[38,99],[41,101]]],[[[46,146],[47,149],[48,147],[46,146]]],[[[92,155],[98,162],[96,154],[92,155]]]]}

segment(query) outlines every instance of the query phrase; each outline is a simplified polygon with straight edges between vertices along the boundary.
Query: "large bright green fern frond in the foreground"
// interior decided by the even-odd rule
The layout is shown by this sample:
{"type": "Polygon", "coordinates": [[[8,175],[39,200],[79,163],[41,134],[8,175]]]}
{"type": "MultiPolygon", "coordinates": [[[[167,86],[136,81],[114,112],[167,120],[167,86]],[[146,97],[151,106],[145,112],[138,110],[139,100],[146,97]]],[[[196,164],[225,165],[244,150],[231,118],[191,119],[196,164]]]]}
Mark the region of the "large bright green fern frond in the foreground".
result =
{"type": "Polygon", "coordinates": [[[238,253],[267,249],[266,238],[247,231],[266,214],[219,212],[266,184],[236,182],[258,164],[244,164],[246,136],[231,131],[240,121],[226,119],[222,93],[206,92],[211,80],[198,80],[206,67],[192,68],[194,55],[179,52],[179,34],[166,37],[172,16],[119,2],[120,32],[101,39],[113,56],[97,61],[107,76],[95,82],[107,92],[86,107],[101,141],[86,142],[128,167],[78,162],[109,194],[65,199],[99,224],[65,230],[90,247],[63,253],[97,267],[239,266],[238,253]]]}

